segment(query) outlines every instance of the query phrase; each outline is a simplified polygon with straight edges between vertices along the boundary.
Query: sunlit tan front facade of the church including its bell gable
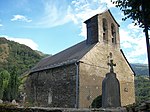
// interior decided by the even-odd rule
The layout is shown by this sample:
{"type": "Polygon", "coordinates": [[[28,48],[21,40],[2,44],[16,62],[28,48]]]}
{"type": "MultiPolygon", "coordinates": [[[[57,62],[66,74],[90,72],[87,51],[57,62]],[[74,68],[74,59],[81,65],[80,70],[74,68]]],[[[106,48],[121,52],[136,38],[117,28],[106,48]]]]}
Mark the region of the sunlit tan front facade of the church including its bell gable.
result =
{"type": "MultiPolygon", "coordinates": [[[[116,63],[115,73],[120,82],[121,105],[132,104],[135,102],[134,73],[120,51],[119,25],[109,11],[98,14],[93,18],[90,20],[92,20],[92,24],[98,24],[99,42],[80,60],[79,105],[80,107],[89,107],[92,101],[101,95],[102,80],[106,73],[109,72],[107,63],[110,59],[113,59],[114,63],[116,63]],[[93,19],[96,17],[98,19],[93,19]],[[104,20],[106,22],[105,33],[107,33],[105,36],[108,36],[105,41],[103,38],[104,20]],[[114,26],[114,31],[112,31],[112,25],[114,26]],[[115,33],[115,42],[112,39],[113,33],[115,33]]],[[[93,28],[96,29],[97,27],[94,26],[93,28]]]]}

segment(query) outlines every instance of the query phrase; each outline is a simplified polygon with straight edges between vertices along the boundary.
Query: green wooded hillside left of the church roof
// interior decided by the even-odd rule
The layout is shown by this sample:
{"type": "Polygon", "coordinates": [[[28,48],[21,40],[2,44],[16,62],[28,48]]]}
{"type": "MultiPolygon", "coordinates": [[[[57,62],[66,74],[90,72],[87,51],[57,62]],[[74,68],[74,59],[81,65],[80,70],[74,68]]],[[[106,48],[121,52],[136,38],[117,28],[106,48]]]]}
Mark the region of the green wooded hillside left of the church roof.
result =
{"type": "Polygon", "coordinates": [[[45,54],[34,51],[30,47],[0,37],[0,71],[3,69],[11,73],[17,68],[19,75],[31,69],[45,54]]]}

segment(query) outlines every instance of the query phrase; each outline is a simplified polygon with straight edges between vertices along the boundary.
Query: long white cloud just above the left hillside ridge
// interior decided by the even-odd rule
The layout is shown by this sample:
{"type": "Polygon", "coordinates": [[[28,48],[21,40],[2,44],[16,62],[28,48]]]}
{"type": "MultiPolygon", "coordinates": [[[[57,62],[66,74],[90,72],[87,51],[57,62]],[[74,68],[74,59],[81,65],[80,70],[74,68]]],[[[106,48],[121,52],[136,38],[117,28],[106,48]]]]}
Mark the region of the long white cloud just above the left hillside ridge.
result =
{"type": "Polygon", "coordinates": [[[35,43],[31,39],[28,39],[28,38],[15,38],[15,37],[9,37],[9,36],[6,36],[6,35],[0,35],[0,37],[5,37],[8,40],[12,40],[12,41],[18,42],[20,44],[24,44],[24,45],[30,47],[33,50],[38,50],[37,43],[35,43]]]}

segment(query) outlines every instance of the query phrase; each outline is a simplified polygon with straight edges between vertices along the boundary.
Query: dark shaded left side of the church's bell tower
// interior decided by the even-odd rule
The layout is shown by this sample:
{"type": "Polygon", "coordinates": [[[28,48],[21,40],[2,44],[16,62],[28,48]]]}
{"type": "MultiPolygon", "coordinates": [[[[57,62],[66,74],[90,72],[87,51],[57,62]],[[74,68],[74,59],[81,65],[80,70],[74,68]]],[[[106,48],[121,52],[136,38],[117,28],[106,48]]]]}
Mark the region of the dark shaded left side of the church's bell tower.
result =
{"type": "Polygon", "coordinates": [[[87,44],[94,44],[98,42],[98,15],[84,22],[87,27],[87,44]]]}

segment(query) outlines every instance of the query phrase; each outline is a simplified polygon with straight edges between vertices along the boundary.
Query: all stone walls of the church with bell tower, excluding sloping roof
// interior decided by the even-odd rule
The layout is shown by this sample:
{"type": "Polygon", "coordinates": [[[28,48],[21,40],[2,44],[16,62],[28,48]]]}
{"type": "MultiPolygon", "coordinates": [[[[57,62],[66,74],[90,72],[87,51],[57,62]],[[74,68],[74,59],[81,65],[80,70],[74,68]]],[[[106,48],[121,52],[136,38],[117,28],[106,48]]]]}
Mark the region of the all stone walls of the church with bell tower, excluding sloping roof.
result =
{"type": "MultiPolygon", "coordinates": [[[[102,80],[109,72],[107,63],[111,58],[116,63],[114,70],[120,82],[121,105],[134,103],[134,74],[120,51],[119,25],[109,11],[87,20],[87,24],[87,43],[98,42],[80,60],[79,107],[88,108],[101,95],[102,80]],[[104,19],[107,22],[107,42],[103,40],[104,19]],[[115,32],[112,32],[112,24],[115,32]],[[115,42],[112,41],[112,33],[115,33],[115,42]]],[[[75,107],[76,73],[76,66],[73,64],[30,74],[27,81],[29,99],[39,106],[75,107]]]]}

